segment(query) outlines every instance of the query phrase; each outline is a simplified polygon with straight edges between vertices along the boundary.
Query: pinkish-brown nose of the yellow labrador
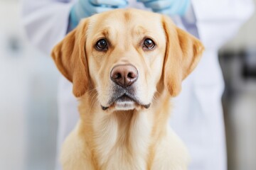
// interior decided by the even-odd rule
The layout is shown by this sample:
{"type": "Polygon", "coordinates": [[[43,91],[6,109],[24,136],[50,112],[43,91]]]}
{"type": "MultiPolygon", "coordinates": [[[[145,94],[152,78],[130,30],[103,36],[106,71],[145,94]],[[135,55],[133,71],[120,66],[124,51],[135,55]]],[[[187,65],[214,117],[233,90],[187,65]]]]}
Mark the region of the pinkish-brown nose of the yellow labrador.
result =
{"type": "Polygon", "coordinates": [[[115,84],[126,88],[138,79],[138,71],[131,64],[117,65],[110,72],[110,78],[115,84]]]}

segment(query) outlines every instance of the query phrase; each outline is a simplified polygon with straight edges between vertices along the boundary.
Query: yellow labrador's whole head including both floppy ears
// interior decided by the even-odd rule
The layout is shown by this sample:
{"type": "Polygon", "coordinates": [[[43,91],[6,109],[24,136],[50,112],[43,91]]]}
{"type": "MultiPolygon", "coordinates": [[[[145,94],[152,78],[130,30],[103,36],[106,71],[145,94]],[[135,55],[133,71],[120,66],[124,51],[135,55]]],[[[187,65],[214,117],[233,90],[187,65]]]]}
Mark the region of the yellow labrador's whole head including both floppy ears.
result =
{"type": "Polygon", "coordinates": [[[95,89],[103,110],[124,111],[149,108],[161,84],[176,96],[202,51],[166,16],[119,9],[80,22],[52,56],[75,96],[95,89]]]}

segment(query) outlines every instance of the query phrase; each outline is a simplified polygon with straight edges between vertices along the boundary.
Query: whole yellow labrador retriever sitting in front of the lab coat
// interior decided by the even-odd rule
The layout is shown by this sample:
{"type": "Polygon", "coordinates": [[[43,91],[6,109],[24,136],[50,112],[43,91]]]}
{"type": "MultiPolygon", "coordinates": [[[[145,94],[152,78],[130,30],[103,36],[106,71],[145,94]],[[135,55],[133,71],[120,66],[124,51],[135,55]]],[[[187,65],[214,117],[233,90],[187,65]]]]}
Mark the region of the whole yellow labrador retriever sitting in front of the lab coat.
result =
{"type": "Polygon", "coordinates": [[[80,101],[63,169],[187,169],[169,101],[202,52],[199,40],[157,13],[117,9],[81,21],[52,52],[80,101]]]}

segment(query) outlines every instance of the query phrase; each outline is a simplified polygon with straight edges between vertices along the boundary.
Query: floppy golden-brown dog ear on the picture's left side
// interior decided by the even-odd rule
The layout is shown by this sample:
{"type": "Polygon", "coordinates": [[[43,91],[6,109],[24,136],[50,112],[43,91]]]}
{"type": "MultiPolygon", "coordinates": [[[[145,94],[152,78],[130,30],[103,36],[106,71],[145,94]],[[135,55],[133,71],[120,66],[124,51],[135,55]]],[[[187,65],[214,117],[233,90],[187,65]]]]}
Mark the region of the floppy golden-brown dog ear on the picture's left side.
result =
{"type": "Polygon", "coordinates": [[[80,97],[88,88],[88,67],[85,56],[87,19],[53,48],[51,56],[60,72],[73,82],[73,94],[80,97]]]}

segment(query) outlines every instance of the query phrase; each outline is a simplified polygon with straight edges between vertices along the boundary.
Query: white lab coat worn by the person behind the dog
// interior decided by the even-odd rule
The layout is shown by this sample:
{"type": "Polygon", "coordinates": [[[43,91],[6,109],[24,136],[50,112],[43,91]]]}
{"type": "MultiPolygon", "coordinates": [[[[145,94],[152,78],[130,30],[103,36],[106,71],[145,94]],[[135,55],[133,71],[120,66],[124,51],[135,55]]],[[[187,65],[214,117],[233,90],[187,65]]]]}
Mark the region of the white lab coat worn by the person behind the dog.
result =
{"type": "MultiPolygon", "coordinates": [[[[28,38],[48,55],[67,32],[72,1],[23,0],[23,23],[28,38]]],[[[136,8],[143,8],[135,0],[130,2],[136,8]]],[[[224,85],[218,48],[251,16],[254,4],[251,0],[191,0],[191,4],[194,17],[174,20],[178,26],[199,35],[206,51],[196,70],[183,81],[181,94],[173,99],[170,124],[191,154],[189,170],[225,170],[225,130],[220,101],[224,85]]],[[[58,94],[59,149],[78,120],[78,103],[72,94],[72,84],[63,77],[58,94]]]]}

